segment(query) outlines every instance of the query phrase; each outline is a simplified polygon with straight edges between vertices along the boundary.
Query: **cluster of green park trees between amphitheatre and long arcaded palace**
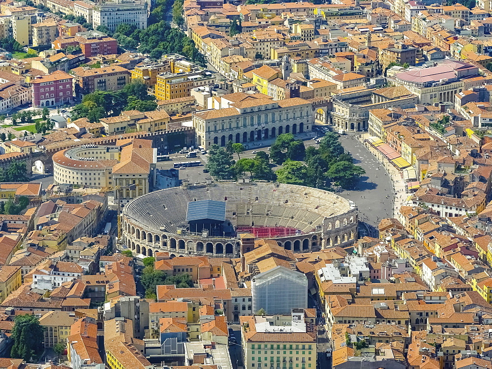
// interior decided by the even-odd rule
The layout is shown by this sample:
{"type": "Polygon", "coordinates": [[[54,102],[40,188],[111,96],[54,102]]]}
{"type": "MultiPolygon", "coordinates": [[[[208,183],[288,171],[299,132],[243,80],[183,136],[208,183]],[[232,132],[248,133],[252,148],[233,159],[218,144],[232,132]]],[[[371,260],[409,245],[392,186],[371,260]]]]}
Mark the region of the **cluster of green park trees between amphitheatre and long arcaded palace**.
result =
{"type": "Polygon", "coordinates": [[[351,189],[366,172],[353,163],[345,153],[336,133],[328,133],[319,147],[305,147],[304,142],[295,140],[294,135],[278,135],[270,148],[270,155],[259,151],[252,159],[241,158],[245,151],[242,143],[228,142],[225,148],[212,145],[209,150],[207,169],[217,179],[235,179],[248,174],[253,179],[278,181],[320,189],[340,186],[351,189]],[[237,154],[238,160],[233,160],[237,154]],[[272,170],[271,163],[281,166],[272,170]]]}

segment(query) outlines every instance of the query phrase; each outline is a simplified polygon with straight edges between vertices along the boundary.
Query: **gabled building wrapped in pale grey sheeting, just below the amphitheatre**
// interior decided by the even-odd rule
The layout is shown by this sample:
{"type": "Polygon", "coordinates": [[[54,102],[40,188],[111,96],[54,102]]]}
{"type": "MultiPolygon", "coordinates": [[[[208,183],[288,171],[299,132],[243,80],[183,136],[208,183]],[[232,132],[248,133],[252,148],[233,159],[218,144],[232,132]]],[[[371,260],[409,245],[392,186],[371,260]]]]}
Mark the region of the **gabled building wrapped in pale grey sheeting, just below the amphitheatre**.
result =
{"type": "Polygon", "coordinates": [[[287,314],[307,308],[306,275],[276,266],[252,279],[253,312],[264,309],[269,315],[287,314]]]}

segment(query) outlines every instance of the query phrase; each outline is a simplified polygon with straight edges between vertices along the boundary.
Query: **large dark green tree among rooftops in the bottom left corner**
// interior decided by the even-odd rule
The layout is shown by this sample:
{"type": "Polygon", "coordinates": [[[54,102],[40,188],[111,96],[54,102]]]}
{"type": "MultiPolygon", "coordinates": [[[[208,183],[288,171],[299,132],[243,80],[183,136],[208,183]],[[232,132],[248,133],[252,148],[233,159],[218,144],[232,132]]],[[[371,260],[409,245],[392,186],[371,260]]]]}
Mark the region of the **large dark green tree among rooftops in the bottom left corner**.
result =
{"type": "Polygon", "coordinates": [[[43,350],[44,329],[35,315],[17,315],[12,328],[10,356],[31,362],[43,350]]]}

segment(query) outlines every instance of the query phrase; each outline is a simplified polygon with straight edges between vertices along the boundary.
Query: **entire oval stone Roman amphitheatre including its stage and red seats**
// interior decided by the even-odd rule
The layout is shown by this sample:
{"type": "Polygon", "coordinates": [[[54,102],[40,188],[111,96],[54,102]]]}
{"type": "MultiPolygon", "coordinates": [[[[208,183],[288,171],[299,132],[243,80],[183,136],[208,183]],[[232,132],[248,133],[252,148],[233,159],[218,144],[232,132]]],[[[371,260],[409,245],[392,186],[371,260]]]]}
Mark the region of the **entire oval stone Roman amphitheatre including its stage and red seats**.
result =
{"type": "MultiPolygon", "coordinates": [[[[293,252],[349,246],[357,207],[338,195],[272,182],[218,181],[151,192],[123,209],[122,237],[136,254],[238,257],[241,234],[293,252]]],[[[248,250],[245,250],[248,251],[248,250]]]]}

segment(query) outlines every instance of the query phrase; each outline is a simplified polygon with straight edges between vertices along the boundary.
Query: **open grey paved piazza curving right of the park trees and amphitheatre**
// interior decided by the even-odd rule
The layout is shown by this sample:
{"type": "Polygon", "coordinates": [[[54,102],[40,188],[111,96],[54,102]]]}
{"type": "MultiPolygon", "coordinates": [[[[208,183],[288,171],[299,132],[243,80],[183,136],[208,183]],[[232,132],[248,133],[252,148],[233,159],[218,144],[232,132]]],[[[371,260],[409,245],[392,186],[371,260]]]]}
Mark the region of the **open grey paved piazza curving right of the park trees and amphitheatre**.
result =
{"type": "Polygon", "coordinates": [[[367,225],[362,227],[373,232],[381,219],[392,216],[394,195],[391,176],[368,148],[352,135],[342,136],[340,143],[352,154],[354,164],[366,170],[355,190],[341,191],[340,195],[355,202],[360,221],[367,225]]]}

